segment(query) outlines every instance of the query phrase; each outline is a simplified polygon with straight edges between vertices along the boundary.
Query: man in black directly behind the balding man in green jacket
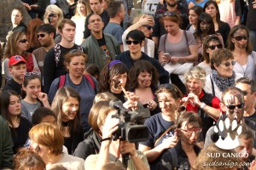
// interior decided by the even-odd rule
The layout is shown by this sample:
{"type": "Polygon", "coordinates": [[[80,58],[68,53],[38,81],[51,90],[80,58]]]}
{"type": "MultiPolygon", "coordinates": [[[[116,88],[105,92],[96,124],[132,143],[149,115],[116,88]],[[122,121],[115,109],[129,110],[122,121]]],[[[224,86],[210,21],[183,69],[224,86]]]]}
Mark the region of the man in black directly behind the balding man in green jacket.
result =
{"type": "Polygon", "coordinates": [[[108,25],[108,21],[109,21],[108,12],[104,10],[104,8],[102,7],[102,0],[90,0],[90,9],[92,12],[86,17],[86,20],[85,20],[84,39],[90,36],[90,29],[88,28],[88,25],[89,25],[90,16],[92,14],[97,14],[101,16],[102,21],[104,23],[103,30],[105,26],[108,25]]]}

